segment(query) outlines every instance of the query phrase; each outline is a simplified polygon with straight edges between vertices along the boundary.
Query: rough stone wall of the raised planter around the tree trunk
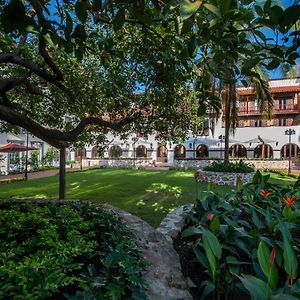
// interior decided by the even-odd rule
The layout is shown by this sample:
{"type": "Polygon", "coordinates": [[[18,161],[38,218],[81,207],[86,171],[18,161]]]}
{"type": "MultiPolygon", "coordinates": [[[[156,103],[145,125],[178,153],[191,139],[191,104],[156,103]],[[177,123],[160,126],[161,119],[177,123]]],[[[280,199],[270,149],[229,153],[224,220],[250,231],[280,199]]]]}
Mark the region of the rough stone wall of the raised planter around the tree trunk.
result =
{"type": "Polygon", "coordinates": [[[225,173],[212,171],[197,171],[198,182],[212,182],[218,185],[235,185],[239,178],[243,183],[249,183],[255,174],[253,173],[225,173]]]}

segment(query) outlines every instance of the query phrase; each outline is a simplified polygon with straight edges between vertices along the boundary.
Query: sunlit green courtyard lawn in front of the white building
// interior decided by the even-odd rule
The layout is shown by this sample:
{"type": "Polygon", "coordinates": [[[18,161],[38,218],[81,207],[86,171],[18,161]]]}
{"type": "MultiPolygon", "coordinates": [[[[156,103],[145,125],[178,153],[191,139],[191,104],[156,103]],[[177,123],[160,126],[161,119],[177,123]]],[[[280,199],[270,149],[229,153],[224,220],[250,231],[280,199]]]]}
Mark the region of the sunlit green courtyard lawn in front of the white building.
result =
{"type": "MultiPolygon", "coordinates": [[[[198,190],[207,184],[198,183],[198,190]]],[[[227,192],[228,186],[217,187],[227,192]]],[[[0,198],[57,198],[58,176],[0,185],[0,198]]],[[[97,169],[67,174],[67,199],[107,203],[158,226],[173,208],[193,203],[193,171],[97,169]]]]}

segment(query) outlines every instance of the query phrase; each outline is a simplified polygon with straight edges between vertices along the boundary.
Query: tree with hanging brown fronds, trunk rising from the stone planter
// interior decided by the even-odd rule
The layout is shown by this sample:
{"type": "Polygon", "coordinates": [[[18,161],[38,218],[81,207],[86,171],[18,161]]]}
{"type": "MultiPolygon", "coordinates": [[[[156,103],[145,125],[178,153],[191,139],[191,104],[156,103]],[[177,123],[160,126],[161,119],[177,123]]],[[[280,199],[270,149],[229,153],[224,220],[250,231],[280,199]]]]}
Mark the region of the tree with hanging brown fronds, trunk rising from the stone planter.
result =
{"type": "Polygon", "coordinates": [[[215,91],[223,100],[224,162],[229,162],[229,131],[236,126],[236,85],[252,86],[270,115],[272,98],[258,69],[289,69],[299,58],[296,1],[286,9],[274,1],[181,1],[181,28],[190,30],[191,57],[201,70],[199,90],[215,91]],[[213,80],[212,80],[213,79],[213,80]],[[218,88],[216,89],[216,82],[218,88]]]}

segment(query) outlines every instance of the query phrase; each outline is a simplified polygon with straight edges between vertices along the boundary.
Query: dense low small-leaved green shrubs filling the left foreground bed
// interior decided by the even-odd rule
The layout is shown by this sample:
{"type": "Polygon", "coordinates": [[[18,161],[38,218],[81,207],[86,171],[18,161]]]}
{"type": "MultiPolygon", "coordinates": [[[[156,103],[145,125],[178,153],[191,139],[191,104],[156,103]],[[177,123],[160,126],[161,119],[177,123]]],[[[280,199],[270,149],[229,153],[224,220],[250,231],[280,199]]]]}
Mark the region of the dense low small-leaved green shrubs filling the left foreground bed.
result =
{"type": "Polygon", "coordinates": [[[145,263],[113,213],[2,203],[0,224],[0,298],[145,299],[145,263]]]}

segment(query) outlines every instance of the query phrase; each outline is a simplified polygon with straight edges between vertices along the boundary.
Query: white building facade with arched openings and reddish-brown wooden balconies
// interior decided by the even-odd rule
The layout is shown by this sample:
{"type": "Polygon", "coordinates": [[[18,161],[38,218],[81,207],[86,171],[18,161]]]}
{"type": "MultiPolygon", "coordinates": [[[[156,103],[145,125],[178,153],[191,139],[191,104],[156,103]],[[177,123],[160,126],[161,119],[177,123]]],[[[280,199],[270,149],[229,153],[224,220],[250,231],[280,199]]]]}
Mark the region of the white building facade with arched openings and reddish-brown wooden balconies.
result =
{"type": "MultiPolygon", "coordinates": [[[[244,159],[296,159],[300,150],[300,77],[274,79],[269,82],[273,97],[272,118],[261,113],[251,88],[238,88],[238,127],[231,135],[230,157],[244,159]],[[289,131],[289,129],[291,129],[289,131]],[[289,135],[288,133],[292,133],[289,135]]],[[[222,158],[224,155],[224,126],[222,118],[216,122],[214,135],[189,134],[182,144],[160,143],[155,135],[142,137],[133,134],[126,140],[109,134],[105,148],[87,146],[68,152],[67,160],[83,161],[84,165],[174,165],[183,160],[222,158]]],[[[26,133],[18,136],[0,134],[0,146],[8,142],[25,145],[26,133]]],[[[29,135],[29,146],[40,149],[39,159],[49,145],[29,135]]],[[[12,169],[14,155],[5,154],[0,162],[4,173],[12,169]]]]}

